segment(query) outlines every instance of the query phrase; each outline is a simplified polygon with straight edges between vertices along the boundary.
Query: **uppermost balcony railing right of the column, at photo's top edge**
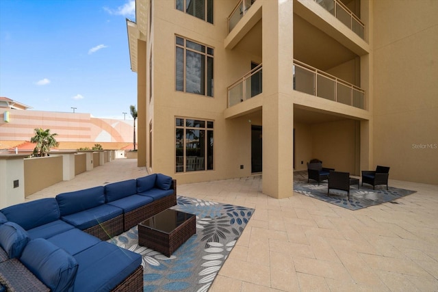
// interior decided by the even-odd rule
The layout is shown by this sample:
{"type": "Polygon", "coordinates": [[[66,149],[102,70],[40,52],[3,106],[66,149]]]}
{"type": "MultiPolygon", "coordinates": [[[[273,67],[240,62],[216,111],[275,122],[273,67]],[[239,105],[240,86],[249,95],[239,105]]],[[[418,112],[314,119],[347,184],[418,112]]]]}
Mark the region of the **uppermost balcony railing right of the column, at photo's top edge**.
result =
{"type": "Polygon", "coordinates": [[[325,10],[333,14],[339,21],[344,23],[355,34],[364,39],[365,25],[359,17],[353,14],[340,0],[315,0],[325,10]]]}

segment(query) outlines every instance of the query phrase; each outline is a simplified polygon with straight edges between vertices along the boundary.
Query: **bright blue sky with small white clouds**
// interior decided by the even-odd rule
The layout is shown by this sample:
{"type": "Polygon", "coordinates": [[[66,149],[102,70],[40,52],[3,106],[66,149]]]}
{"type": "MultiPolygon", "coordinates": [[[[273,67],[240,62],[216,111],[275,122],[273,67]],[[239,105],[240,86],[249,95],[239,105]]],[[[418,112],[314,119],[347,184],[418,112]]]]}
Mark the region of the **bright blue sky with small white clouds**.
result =
{"type": "Polygon", "coordinates": [[[131,119],[133,0],[0,0],[0,96],[31,110],[131,119]]]}

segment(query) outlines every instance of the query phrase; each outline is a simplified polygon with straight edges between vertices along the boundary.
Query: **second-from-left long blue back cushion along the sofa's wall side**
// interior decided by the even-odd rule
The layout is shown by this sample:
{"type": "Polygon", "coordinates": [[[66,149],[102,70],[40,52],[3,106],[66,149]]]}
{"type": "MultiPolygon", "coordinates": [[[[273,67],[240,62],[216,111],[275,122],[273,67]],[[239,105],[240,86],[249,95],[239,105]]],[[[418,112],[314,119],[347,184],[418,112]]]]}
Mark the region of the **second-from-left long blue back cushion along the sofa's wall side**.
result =
{"type": "Polygon", "coordinates": [[[103,186],[70,191],[56,196],[61,216],[78,213],[105,204],[103,186]]]}

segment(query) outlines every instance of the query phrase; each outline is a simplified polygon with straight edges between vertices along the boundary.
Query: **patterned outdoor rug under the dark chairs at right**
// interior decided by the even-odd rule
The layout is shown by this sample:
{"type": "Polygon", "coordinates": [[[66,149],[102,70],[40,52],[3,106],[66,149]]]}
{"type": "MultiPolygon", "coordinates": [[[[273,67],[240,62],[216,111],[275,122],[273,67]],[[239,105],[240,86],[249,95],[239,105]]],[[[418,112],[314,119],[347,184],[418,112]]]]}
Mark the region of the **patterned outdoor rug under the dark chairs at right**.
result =
{"type": "Polygon", "coordinates": [[[359,189],[357,189],[357,185],[350,185],[350,200],[348,200],[346,191],[336,189],[331,189],[330,196],[327,196],[327,187],[327,181],[322,181],[320,185],[312,180],[307,183],[307,170],[294,172],[295,192],[350,210],[359,210],[384,202],[393,202],[398,198],[415,193],[415,191],[409,189],[398,189],[396,187],[388,187],[387,190],[386,185],[378,185],[373,190],[372,185],[363,185],[362,187],[359,184],[359,189]]]}

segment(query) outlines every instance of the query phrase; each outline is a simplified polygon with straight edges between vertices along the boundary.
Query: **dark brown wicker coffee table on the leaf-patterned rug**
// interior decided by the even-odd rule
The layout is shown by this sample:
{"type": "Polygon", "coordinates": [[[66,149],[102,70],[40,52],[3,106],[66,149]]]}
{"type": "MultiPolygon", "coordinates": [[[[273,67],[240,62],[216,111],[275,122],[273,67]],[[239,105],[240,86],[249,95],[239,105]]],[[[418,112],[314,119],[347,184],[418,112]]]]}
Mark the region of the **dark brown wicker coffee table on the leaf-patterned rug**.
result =
{"type": "Polygon", "coordinates": [[[170,256],[195,233],[195,215],[167,209],[138,224],[138,244],[170,256]]]}

